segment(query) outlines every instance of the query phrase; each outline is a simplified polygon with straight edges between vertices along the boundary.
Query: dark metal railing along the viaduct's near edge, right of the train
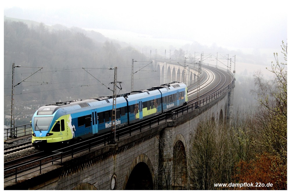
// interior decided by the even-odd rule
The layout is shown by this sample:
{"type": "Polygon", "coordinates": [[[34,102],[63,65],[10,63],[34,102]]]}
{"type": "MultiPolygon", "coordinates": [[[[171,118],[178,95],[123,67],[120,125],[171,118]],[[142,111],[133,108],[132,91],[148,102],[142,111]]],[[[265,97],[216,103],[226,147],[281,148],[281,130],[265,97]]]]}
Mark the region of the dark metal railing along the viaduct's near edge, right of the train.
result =
{"type": "MultiPolygon", "coordinates": [[[[209,95],[203,99],[200,99],[198,102],[194,102],[194,103],[188,104],[186,106],[183,106],[181,108],[178,108],[175,111],[172,111],[171,113],[165,113],[165,114],[156,116],[150,120],[139,122],[139,123],[134,124],[130,127],[125,127],[124,129],[116,130],[116,138],[119,141],[119,138],[121,138],[125,135],[131,136],[131,134],[135,131],[141,132],[142,129],[145,129],[145,128],[146,128],[146,130],[151,130],[151,128],[154,124],[160,125],[160,124],[167,122],[169,120],[175,121],[179,115],[182,116],[182,115],[184,115],[184,113],[188,113],[189,111],[193,111],[198,107],[200,108],[201,106],[206,105],[207,103],[210,103],[214,99],[217,99],[221,95],[225,94],[232,87],[232,84],[233,84],[233,82],[229,83],[228,86],[222,88],[221,90],[219,90],[215,93],[212,93],[211,95],[209,95]]],[[[26,125],[30,125],[30,124],[26,124],[26,125]]],[[[23,125],[23,126],[26,126],[26,125],[23,125]]],[[[26,127],[24,127],[24,128],[26,128],[26,127]]],[[[55,151],[55,154],[52,154],[51,156],[29,162],[29,164],[34,164],[34,165],[30,165],[30,167],[28,167],[26,169],[17,170],[17,169],[20,169],[22,166],[27,165],[27,163],[22,164],[20,166],[13,167],[13,168],[4,169],[4,173],[6,171],[10,172],[10,173],[8,173],[8,175],[4,176],[4,179],[6,179],[6,180],[4,180],[4,182],[11,181],[11,180],[15,180],[15,182],[17,182],[17,178],[28,175],[30,173],[35,173],[38,171],[41,174],[42,173],[41,170],[43,170],[44,168],[47,168],[51,165],[54,165],[56,163],[62,163],[63,159],[65,157],[70,156],[73,158],[74,154],[77,154],[79,152],[83,152],[86,150],[88,150],[88,152],[90,152],[93,147],[100,146],[102,144],[104,144],[104,146],[106,146],[106,143],[109,143],[110,140],[111,140],[111,137],[108,136],[108,134],[107,134],[107,136],[104,135],[103,138],[96,137],[96,138],[82,142],[82,145],[79,147],[76,147],[76,145],[78,145],[78,144],[75,144],[75,145],[69,146],[69,147],[71,147],[71,149],[69,149],[67,151],[61,151],[62,149],[60,149],[60,150],[55,151]],[[49,158],[49,157],[52,157],[52,159],[47,160],[47,158],[49,158]],[[22,173],[22,174],[20,174],[20,173],[22,173]]]]}

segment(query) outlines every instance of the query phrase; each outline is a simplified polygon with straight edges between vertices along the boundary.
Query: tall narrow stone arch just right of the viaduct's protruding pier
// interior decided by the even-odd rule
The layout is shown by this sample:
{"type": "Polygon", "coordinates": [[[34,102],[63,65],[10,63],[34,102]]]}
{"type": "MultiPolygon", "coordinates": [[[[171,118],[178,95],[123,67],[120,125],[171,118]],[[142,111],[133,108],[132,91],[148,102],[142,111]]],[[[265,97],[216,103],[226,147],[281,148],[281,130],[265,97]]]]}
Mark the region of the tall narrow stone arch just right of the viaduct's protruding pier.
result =
{"type": "Polygon", "coordinates": [[[186,142],[181,134],[175,138],[173,146],[173,170],[172,187],[173,189],[183,189],[187,186],[187,156],[186,142]]]}

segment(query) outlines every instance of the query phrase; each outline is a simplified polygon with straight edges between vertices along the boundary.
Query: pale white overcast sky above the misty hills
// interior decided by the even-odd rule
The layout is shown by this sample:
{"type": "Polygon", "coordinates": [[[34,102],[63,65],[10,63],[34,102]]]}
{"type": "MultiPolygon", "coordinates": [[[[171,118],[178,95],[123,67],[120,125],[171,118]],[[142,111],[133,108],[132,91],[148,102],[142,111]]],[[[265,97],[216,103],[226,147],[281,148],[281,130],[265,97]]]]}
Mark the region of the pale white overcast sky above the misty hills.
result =
{"type": "Polygon", "coordinates": [[[267,52],[272,57],[273,52],[281,52],[282,40],[287,42],[286,0],[8,0],[3,7],[7,17],[99,29],[105,36],[119,40],[125,40],[123,32],[130,31],[127,38],[132,42],[164,40],[177,49],[198,42],[248,54],[267,52]],[[11,11],[13,7],[19,9],[11,11]],[[118,30],[119,34],[108,30],[118,30]],[[136,36],[142,39],[134,39],[136,36]]]}

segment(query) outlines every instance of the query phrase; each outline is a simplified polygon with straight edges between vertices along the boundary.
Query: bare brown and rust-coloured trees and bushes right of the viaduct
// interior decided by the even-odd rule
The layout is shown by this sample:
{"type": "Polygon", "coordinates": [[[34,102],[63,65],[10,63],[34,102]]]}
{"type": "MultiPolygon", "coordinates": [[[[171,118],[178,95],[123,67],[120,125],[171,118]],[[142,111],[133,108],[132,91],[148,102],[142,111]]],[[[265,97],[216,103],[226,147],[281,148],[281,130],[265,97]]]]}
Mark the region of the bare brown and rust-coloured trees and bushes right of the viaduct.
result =
{"type": "MultiPolygon", "coordinates": [[[[282,42],[287,61],[287,45],[282,42]]],[[[255,88],[258,106],[237,109],[227,124],[205,118],[196,127],[189,151],[192,188],[287,189],[287,63],[272,62],[274,79],[258,72],[255,88]],[[214,183],[272,183],[268,187],[214,188],[214,183]]]]}

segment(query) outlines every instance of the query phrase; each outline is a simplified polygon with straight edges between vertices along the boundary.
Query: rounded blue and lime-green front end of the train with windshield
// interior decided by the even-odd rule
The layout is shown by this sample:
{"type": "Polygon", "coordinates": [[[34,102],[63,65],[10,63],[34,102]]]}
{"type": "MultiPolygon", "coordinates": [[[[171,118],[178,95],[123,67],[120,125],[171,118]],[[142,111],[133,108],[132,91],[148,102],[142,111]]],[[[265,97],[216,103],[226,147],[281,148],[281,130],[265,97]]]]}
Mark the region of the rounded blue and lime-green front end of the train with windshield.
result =
{"type": "MultiPolygon", "coordinates": [[[[31,120],[31,143],[36,149],[68,143],[67,118],[60,106],[40,107],[31,120]]],[[[72,137],[70,137],[72,138],[72,137]]]]}

